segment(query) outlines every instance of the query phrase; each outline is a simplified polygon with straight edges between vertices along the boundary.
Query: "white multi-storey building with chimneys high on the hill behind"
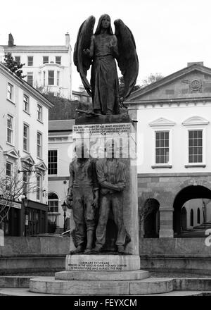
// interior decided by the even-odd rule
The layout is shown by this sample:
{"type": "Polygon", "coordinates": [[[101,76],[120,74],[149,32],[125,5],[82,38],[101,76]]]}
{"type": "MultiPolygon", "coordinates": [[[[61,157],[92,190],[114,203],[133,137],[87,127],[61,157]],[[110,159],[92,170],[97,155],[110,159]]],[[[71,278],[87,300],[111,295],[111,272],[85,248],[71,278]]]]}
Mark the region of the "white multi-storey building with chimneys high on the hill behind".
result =
{"type": "Polygon", "coordinates": [[[16,61],[25,63],[23,75],[30,85],[42,92],[53,92],[71,99],[72,49],[68,33],[62,46],[15,45],[9,34],[8,45],[0,46],[0,61],[4,61],[6,52],[11,52],[16,61]]]}

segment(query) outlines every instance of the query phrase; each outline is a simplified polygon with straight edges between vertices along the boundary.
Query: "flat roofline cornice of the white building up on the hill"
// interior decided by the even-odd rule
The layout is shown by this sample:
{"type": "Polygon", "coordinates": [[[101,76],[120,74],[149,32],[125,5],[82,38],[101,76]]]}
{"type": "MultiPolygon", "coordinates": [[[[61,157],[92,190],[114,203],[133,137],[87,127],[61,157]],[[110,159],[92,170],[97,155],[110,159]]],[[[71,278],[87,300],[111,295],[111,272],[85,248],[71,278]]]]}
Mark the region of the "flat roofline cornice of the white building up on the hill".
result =
{"type": "Polygon", "coordinates": [[[68,51],[65,45],[0,45],[6,51],[68,51]]]}

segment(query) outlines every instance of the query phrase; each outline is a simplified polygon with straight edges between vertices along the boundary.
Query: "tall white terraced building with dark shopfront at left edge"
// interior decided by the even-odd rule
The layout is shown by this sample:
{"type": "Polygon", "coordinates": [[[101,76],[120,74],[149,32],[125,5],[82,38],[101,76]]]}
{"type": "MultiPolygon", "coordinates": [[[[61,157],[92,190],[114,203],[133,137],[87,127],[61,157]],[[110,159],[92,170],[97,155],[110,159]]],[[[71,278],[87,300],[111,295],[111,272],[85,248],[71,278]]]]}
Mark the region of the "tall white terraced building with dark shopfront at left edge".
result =
{"type": "Polygon", "coordinates": [[[49,109],[53,104],[1,64],[0,89],[0,179],[17,178],[24,185],[1,229],[5,235],[46,233],[48,150],[45,146],[49,109]],[[27,197],[26,209],[24,197],[27,197]]]}

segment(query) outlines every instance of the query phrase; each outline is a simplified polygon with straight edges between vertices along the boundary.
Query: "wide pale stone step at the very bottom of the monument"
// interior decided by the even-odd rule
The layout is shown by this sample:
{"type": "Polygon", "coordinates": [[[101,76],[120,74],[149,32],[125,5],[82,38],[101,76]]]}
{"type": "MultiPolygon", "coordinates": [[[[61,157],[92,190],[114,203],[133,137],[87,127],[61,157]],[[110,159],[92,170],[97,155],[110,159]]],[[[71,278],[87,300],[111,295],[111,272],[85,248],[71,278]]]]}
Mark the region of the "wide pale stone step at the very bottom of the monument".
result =
{"type": "Polygon", "coordinates": [[[30,292],[73,295],[130,295],[160,294],[173,290],[172,278],[147,278],[144,280],[55,280],[34,278],[30,292]]]}

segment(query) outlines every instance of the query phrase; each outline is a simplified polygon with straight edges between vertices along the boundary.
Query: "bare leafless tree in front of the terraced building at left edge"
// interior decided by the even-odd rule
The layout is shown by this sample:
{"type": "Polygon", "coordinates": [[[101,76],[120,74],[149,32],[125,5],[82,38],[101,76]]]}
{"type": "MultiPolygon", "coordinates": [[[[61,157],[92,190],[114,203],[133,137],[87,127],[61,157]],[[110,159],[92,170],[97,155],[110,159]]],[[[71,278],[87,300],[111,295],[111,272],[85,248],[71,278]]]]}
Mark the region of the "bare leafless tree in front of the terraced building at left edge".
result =
{"type": "Polygon", "coordinates": [[[0,171],[0,225],[8,215],[14,202],[20,202],[23,196],[37,190],[37,185],[24,180],[18,169],[11,176],[6,175],[6,169],[0,171]]]}

